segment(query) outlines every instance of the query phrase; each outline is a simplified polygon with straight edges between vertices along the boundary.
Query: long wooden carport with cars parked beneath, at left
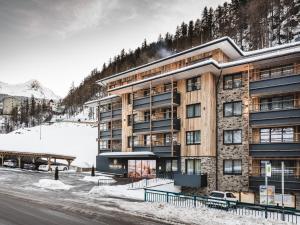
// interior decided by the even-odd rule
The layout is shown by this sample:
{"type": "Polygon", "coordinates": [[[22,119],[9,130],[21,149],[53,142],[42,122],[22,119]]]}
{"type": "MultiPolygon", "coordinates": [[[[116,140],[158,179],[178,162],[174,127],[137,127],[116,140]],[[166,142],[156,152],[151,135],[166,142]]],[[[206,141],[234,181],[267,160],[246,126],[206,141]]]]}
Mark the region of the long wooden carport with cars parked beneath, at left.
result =
{"type": "Polygon", "coordinates": [[[38,159],[46,159],[48,165],[52,164],[52,159],[54,163],[56,160],[66,160],[68,166],[76,159],[74,156],[67,156],[67,155],[59,155],[59,154],[51,154],[51,153],[35,153],[35,152],[20,152],[20,151],[7,151],[7,150],[0,150],[0,163],[3,166],[4,160],[6,159],[16,159],[18,162],[18,167],[21,168],[22,160],[30,161],[35,163],[38,159]]]}

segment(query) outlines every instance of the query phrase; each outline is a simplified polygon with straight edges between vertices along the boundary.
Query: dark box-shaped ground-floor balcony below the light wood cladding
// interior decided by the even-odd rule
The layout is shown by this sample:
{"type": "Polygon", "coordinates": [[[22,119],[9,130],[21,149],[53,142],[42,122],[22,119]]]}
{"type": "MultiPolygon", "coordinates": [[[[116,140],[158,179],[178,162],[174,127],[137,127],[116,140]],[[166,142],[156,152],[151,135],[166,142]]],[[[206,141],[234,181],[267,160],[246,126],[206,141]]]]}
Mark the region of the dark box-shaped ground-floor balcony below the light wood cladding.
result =
{"type": "Polygon", "coordinates": [[[174,185],[191,188],[207,187],[207,174],[174,174],[174,185]]]}

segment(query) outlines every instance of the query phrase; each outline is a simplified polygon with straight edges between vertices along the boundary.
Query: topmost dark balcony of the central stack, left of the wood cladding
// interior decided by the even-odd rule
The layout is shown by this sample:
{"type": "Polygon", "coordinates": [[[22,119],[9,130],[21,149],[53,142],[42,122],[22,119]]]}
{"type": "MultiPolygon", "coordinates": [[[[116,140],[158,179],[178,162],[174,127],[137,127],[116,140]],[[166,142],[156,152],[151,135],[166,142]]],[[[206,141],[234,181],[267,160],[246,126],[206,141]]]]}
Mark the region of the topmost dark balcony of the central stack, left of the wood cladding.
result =
{"type": "MultiPolygon", "coordinates": [[[[173,100],[172,92],[162,92],[157,93],[151,96],[151,107],[152,108],[160,108],[160,107],[170,107],[172,104],[180,105],[180,94],[178,92],[174,92],[173,100]]],[[[135,110],[145,110],[150,109],[150,96],[135,98],[133,100],[133,109],[135,110]]]]}

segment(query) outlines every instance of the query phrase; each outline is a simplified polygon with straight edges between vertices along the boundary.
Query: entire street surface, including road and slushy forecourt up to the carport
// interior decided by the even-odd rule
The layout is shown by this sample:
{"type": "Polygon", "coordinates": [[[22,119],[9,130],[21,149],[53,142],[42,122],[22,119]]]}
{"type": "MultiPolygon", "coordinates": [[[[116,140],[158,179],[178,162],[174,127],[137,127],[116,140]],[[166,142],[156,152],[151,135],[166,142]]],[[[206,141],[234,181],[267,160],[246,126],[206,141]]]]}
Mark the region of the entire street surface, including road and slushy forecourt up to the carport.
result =
{"type": "Polygon", "coordinates": [[[83,176],[80,174],[62,175],[66,182],[77,185],[73,191],[46,191],[32,187],[39,178],[51,176],[48,173],[0,169],[0,225],[170,224],[121,210],[110,199],[91,200],[80,195],[79,189],[89,190],[94,185],[75,179],[83,176]]]}

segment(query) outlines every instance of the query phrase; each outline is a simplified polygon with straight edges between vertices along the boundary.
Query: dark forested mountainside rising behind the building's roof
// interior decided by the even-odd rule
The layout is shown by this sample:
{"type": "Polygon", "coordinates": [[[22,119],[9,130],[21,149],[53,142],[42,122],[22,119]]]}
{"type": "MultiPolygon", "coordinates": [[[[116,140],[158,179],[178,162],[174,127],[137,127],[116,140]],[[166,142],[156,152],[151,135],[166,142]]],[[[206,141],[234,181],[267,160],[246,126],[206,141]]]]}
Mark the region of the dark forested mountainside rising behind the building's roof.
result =
{"type": "Polygon", "coordinates": [[[72,87],[63,102],[72,112],[102,91],[96,80],[220,37],[231,37],[245,51],[299,41],[299,21],[300,0],[231,0],[216,9],[205,7],[199,19],[182,22],[174,34],[160,34],[150,44],[144,40],[135,50],[122,49],[72,87]]]}

